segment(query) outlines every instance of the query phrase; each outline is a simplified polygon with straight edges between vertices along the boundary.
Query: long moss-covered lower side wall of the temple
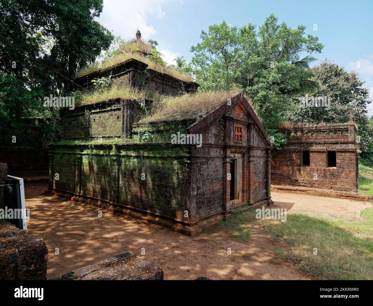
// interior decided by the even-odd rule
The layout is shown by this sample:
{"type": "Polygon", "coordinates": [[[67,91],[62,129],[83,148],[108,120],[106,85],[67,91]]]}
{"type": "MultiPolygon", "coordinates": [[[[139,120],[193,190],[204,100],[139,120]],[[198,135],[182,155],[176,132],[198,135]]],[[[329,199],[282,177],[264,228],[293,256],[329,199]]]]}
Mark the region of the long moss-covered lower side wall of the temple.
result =
{"type": "Polygon", "coordinates": [[[50,187],[171,217],[190,210],[189,146],[60,144],[50,152],[50,187]]]}

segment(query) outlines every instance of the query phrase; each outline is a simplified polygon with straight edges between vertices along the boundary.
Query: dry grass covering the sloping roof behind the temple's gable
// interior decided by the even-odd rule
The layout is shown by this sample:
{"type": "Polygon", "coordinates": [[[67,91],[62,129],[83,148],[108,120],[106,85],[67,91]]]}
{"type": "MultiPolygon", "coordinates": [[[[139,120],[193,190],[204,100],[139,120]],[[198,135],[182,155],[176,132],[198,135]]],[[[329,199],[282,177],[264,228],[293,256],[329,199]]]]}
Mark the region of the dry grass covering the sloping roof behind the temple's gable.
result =
{"type": "Polygon", "coordinates": [[[165,97],[154,103],[150,115],[142,121],[182,120],[203,118],[217,106],[239,93],[237,88],[229,91],[211,90],[177,97],[165,97]]]}

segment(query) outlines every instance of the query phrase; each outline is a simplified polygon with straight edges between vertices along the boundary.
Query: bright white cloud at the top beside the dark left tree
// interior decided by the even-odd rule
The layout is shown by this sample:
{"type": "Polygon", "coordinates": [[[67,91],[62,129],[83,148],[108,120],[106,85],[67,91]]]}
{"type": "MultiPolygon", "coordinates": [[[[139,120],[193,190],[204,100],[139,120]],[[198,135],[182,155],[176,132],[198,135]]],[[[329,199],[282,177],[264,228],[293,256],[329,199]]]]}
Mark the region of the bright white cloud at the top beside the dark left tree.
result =
{"type": "Polygon", "coordinates": [[[135,37],[137,28],[145,40],[157,31],[147,23],[150,16],[161,19],[165,15],[162,5],[169,0],[104,0],[100,20],[114,35],[123,39],[135,37]]]}

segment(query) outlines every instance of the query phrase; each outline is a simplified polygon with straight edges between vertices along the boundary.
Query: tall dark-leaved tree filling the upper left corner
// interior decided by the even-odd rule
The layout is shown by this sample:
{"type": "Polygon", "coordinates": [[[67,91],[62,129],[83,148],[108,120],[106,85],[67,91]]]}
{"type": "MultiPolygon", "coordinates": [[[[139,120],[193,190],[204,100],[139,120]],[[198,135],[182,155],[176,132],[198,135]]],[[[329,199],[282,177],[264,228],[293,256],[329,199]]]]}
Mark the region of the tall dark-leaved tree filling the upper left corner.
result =
{"type": "Polygon", "coordinates": [[[0,2],[0,134],[43,116],[43,97],[65,95],[76,72],[110,46],[96,19],[103,0],[0,2]]]}

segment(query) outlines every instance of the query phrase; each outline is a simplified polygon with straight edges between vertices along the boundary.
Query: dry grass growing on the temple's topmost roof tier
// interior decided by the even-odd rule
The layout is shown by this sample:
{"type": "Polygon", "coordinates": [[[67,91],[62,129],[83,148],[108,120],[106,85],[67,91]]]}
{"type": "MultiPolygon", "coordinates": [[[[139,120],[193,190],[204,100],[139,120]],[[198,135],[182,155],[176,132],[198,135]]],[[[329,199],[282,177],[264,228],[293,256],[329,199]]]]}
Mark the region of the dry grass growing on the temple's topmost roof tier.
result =
{"type": "Polygon", "coordinates": [[[97,71],[100,68],[104,69],[104,68],[125,62],[128,59],[136,59],[136,60],[139,60],[140,62],[147,64],[148,68],[150,69],[171,75],[172,77],[181,79],[182,81],[185,81],[185,82],[194,81],[190,75],[186,75],[182,73],[181,71],[178,71],[177,69],[174,69],[172,67],[167,67],[159,63],[156,63],[153,60],[151,60],[150,57],[140,53],[140,52],[149,53],[152,50],[153,48],[150,46],[150,44],[146,43],[145,41],[141,41],[141,43],[139,43],[136,40],[128,41],[126,44],[120,47],[120,49],[117,51],[117,53],[112,58],[104,60],[101,63],[101,65],[100,63],[96,62],[90,66],[85,67],[84,69],[78,72],[78,75],[76,77],[82,77],[83,75],[90,74],[91,72],[97,71]]]}

